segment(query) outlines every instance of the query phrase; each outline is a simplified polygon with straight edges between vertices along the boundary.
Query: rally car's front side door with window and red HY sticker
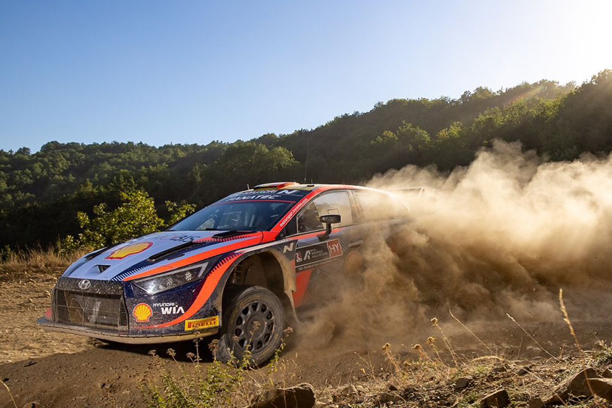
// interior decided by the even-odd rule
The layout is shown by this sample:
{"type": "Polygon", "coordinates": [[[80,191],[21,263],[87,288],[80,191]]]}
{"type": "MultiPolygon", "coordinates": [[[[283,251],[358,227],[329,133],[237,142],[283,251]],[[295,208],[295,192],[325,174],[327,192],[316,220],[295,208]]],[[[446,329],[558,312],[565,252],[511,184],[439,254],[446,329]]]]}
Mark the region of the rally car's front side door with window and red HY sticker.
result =
{"type": "Polygon", "coordinates": [[[356,226],[353,197],[348,190],[333,190],[316,196],[294,219],[296,228],[295,269],[298,311],[325,303],[337,295],[345,258],[356,226]],[[321,215],[338,214],[340,223],[324,237],[321,215]]]}

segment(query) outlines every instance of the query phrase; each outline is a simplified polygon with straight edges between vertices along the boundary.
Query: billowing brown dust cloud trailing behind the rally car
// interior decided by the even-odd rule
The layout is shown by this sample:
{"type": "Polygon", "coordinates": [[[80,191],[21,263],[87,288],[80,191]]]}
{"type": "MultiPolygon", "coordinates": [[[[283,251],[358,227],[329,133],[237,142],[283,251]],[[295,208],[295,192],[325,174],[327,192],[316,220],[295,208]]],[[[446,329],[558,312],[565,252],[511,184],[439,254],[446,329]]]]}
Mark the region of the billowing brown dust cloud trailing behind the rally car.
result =
{"type": "Polygon", "coordinates": [[[612,155],[551,163],[495,141],[450,174],[406,166],[367,186],[400,196],[412,221],[371,232],[362,275],[310,325],[321,342],[403,335],[449,310],[465,322],[561,322],[559,288],[576,295],[574,317],[610,303],[612,155]]]}

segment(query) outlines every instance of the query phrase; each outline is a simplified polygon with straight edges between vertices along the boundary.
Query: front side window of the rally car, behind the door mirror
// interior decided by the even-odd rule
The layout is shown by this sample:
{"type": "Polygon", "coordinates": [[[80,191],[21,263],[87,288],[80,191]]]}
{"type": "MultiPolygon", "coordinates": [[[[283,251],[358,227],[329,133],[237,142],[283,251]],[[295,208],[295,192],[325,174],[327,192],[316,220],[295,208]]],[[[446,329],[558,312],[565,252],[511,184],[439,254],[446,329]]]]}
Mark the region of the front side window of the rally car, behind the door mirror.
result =
{"type": "Polygon", "coordinates": [[[319,217],[327,214],[340,214],[341,222],[336,226],[353,224],[351,201],[346,191],[324,193],[315,198],[297,215],[297,232],[319,231],[325,229],[319,217]]]}

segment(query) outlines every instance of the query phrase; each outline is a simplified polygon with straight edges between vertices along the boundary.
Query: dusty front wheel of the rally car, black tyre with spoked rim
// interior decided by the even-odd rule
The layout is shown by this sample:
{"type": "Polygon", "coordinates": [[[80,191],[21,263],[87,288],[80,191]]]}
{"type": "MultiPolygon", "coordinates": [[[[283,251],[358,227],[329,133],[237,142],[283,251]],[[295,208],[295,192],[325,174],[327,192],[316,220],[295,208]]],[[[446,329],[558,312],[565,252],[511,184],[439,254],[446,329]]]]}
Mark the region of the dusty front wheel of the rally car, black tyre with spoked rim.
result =
{"type": "Polygon", "coordinates": [[[242,362],[247,350],[250,363],[270,360],[283,341],[285,308],[278,296],[261,286],[233,289],[223,306],[221,335],[215,357],[222,362],[242,362]]]}

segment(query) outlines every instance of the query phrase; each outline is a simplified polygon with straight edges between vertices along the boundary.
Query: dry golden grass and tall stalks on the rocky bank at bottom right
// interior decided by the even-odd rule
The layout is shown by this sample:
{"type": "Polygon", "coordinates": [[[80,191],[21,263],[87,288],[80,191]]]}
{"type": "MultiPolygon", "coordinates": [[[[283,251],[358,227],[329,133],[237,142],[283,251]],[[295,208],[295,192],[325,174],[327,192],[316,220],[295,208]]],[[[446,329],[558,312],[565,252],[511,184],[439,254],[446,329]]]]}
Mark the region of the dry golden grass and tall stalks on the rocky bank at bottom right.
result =
{"type": "MultiPolygon", "coordinates": [[[[474,354],[461,354],[444,334],[438,319],[431,322],[440,333],[443,349],[438,339],[430,337],[423,345],[405,347],[400,353],[392,351],[387,343],[382,347],[383,366],[376,368],[369,356],[359,356],[362,381],[345,387],[328,387],[319,394],[332,406],[359,407],[479,407],[480,399],[489,393],[505,389],[513,407],[528,407],[536,397],[551,396],[562,380],[585,367],[592,367],[600,374],[612,362],[612,346],[601,342],[599,349],[584,351],[578,343],[562,294],[559,295],[564,321],[576,341],[577,352],[564,357],[555,357],[550,352],[547,358],[516,360],[514,351],[489,345],[469,327],[450,313],[468,333],[480,343],[474,354]],[[409,354],[406,354],[408,349],[409,354]],[[465,385],[459,386],[458,383],[465,385]],[[348,387],[348,388],[347,388],[348,387]]],[[[510,316],[509,316],[510,317],[510,316]]],[[[527,331],[510,317],[525,333],[527,331]]],[[[535,339],[534,339],[535,341],[535,339]]],[[[326,405],[324,405],[326,406],[326,405]]],[[[565,407],[605,407],[608,404],[595,397],[588,401],[566,401],[565,407]]]]}

